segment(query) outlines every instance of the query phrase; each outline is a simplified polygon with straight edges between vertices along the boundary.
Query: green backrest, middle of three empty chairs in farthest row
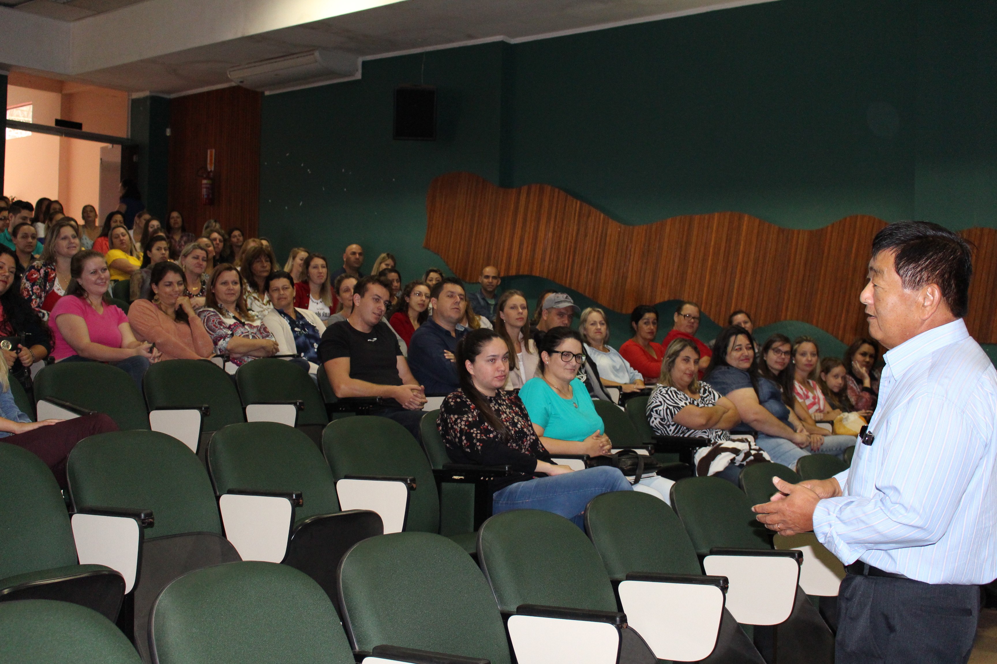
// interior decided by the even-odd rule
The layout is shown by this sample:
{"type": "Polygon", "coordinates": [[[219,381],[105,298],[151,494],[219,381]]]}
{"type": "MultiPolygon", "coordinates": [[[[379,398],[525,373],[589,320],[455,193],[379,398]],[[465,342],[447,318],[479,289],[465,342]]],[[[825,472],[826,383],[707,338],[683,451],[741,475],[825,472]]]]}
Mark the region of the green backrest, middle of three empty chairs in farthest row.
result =
{"type": "Polygon", "coordinates": [[[210,406],[202,431],[217,431],[228,424],[245,422],[232,379],[214,362],[203,359],[157,362],[146,371],[143,388],[150,410],[210,406]]]}

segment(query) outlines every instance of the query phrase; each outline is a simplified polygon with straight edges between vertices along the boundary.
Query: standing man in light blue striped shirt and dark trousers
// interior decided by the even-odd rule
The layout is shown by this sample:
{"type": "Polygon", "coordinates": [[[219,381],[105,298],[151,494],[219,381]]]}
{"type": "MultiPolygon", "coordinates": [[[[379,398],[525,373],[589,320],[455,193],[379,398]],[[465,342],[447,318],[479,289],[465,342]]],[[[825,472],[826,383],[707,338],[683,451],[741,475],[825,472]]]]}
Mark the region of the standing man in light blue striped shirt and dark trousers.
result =
{"type": "Polygon", "coordinates": [[[869,334],[888,348],[851,468],[758,505],[781,535],[813,530],[845,563],[837,662],[965,662],[979,585],[997,577],[997,372],[962,317],[970,247],[901,222],[872,242],[869,334]]]}

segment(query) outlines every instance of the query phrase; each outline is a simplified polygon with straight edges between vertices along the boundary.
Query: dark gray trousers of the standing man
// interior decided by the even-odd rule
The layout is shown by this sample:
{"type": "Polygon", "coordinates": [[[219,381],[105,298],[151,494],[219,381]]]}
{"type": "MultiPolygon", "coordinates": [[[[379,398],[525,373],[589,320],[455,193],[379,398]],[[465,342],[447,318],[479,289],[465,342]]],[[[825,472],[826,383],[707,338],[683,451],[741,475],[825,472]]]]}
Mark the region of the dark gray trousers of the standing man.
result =
{"type": "Polygon", "coordinates": [[[848,574],[837,595],[836,664],[963,664],[979,618],[978,585],[848,574]]]}

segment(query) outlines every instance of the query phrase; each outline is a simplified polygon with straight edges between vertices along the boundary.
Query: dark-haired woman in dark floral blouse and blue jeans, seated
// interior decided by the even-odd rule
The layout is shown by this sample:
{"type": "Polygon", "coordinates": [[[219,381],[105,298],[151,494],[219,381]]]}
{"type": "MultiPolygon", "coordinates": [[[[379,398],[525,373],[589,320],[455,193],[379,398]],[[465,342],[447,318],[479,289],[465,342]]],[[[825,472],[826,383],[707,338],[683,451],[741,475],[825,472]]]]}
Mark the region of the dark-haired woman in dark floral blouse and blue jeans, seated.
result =
{"type": "Polygon", "coordinates": [[[507,465],[514,471],[491,481],[494,514],[544,510],[584,529],[582,515],[592,498],[632,490],[619,469],[572,471],[550,462],[526,407],[502,389],[508,376],[508,346],[498,332],[467,334],[457,346],[457,369],[461,389],[444,399],[437,426],[455,463],[507,465]]]}

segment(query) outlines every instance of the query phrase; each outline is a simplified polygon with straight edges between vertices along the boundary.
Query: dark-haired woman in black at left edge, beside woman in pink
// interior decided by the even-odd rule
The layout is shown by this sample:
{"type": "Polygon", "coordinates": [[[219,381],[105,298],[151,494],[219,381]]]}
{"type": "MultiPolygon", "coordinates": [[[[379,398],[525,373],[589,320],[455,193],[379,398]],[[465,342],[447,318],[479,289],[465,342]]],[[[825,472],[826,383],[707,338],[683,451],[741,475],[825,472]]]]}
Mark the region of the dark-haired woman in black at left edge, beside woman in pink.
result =
{"type": "MultiPolygon", "coordinates": [[[[35,229],[30,224],[34,233],[35,229]]],[[[45,323],[31,309],[28,301],[14,287],[17,259],[6,247],[0,247],[0,337],[7,337],[9,348],[0,347],[10,375],[24,391],[32,393],[31,366],[43,361],[52,350],[52,341],[45,323]]]]}

